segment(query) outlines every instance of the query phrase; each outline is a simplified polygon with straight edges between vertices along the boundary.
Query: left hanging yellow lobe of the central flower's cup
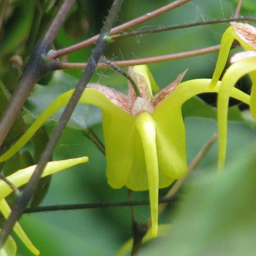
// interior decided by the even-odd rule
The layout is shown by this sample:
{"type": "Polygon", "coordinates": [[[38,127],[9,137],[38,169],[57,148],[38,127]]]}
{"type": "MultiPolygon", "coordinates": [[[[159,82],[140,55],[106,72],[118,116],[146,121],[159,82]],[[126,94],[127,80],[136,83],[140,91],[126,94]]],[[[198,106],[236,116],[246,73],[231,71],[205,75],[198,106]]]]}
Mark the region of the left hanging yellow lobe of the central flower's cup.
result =
{"type": "Polygon", "coordinates": [[[106,147],[106,175],[111,187],[125,185],[132,171],[134,157],[135,118],[121,109],[111,113],[102,111],[103,134],[106,147]],[[126,114],[126,115],[124,115],[126,114]]]}

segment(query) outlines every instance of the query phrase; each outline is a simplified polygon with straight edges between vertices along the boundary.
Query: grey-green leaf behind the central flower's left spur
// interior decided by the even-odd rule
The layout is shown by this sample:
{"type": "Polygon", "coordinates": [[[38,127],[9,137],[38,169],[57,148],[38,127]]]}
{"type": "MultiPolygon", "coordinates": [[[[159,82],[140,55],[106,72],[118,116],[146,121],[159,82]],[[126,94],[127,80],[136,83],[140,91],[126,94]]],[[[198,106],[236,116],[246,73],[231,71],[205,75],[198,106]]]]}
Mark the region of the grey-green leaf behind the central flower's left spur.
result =
{"type": "MultiPolygon", "coordinates": [[[[39,114],[62,93],[74,89],[78,80],[62,71],[55,71],[52,80],[47,86],[36,85],[28,98],[26,108],[36,119],[39,114]]],[[[62,114],[58,111],[52,116],[57,121],[62,114]]],[[[101,110],[92,105],[79,104],[71,116],[68,126],[75,129],[85,129],[88,126],[101,122],[101,110]]]]}

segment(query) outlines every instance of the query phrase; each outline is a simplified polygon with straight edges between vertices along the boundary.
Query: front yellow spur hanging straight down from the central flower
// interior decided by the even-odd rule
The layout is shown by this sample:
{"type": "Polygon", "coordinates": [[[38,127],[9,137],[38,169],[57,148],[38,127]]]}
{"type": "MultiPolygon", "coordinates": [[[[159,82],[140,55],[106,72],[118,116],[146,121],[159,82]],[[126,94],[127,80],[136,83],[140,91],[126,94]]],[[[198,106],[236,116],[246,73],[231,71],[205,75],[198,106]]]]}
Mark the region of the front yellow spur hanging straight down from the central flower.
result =
{"type": "Polygon", "coordinates": [[[140,113],[135,121],[137,130],[139,131],[141,142],[145,154],[145,162],[147,168],[150,211],[152,220],[152,235],[157,235],[158,229],[158,189],[159,189],[159,172],[157,151],[155,144],[156,124],[153,118],[147,112],[140,113]]]}

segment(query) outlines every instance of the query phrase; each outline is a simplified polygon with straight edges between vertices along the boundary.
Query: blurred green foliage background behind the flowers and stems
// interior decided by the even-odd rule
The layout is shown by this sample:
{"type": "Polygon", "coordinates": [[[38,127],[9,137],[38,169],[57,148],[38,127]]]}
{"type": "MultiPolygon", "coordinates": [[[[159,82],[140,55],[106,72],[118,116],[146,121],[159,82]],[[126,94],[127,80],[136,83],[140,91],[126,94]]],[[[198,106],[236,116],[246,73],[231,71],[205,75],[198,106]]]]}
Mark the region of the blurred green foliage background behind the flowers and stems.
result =
{"type": "MultiPolygon", "coordinates": [[[[0,79],[10,91],[13,90],[21,72],[19,66],[13,67],[13,62],[9,62],[10,57],[21,55],[23,61],[26,62],[29,47],[24,48],[21,42],[26,42],[27,45],[30,42],[33,45],[32,42],[36,41],[37,35],[32,37],[30,33],[33,26],[36,26],[35,2],[11,1],[10,15],[6,14],[7,17],[1,30],[0,79]],[[30,38],[30,41],[27,42],[26,38],[30,38]],[[10,74],[12,74],[11,77],[10,74]]],[[[50,8],[50,4],[54,4],[55,1],[38,2],[45,10],[41,27],[39,25],[37,27],[38,31],[42,31],[52,15],[52,9],[48,11],[47,8],[50,8]]],[[[55,40],[55,47],[57,49],[66,47],[98,33],[111,2],[77,1],[55,40]]],[[[125,0],[116,25],[170,2],[125,0]]],[[[255,7],[252,2],[244,0],[241,15],[255,16],[255,7]]],[[[192,0],[130,31],[231,17],[235,12],[235,4],[235,0],[192,0]]],[[[54,9],[54,5],[52,8],[54,9]]],[[[209,47],[219,44],[222,33],[227,27],[228,24],[217,24],[123,38],[111,43],[104,55],[109,59],[126,60],[209,47]]],[[[93,46],[82,49],[70,54],[68,59],[66,57],[63,59],[70,62],[86,62],[92,49],[93,46]]],[[[183,81],[211,78],[216,60],[217,53],[211,53],[148,66],[159,87],[163,88],[187,68],[189,71],[183,81]]],[[[24,111],[27,123],[31,123],[27,116],[31,115],[35,118],[57,95],[74,88],[82,74],[81,70],[57,72],[52,74],[53,79],[51,75],[44,77],[32,91],[24,111]],[[56,77],[62,78],[57,81],[56,77]]],[[[126,79],[109,69],[98,69],[91,81],[123,92],[127,91],[126,79]]],[[[248,92],[247,82],[248,79],[245,79],[239,86],[243,86],[248,92]]],[[[215,97],[207,96],[208,102],[214,105],[215,97]]],[[[103,140],[101,123],[98,123],[101,118],[100,111],[79,108],[73,116],[76,122],[71,122],[66,128],[53,159],[87,155],[90,161],[54,174],[49,191],[41,205],[111,202],[128,199],[126,188],[114,190],[108,185],[105,157],[82,134],[81,129],[88,125],[86,123],[88,118],[92,118],[89,125],[96,123],[93,129],[103,140]]],[[[172,224],[166,239],[148,242],[141,250],[141,255],[241,255],[242,252],[246,255],[253,255],[255,251],[255,243],[252,239],[255,234],[253,206],[255,204],[255,150],[253,142],[256,134],[252,126],[241,121],[242,116],[237,106],[234,106],[232,111],[232,116],[230,116],[232,121],[229,123],[227,170],[216,178],[217,143],[215,143],[179,192],[180,202],[171,205],[160,215],[160,224],[172,224]]],[[[217,124],[214,120],[215,108],[205,105],[202,101],[191,100],[184,106],[184,115],[188,163],[190,163],[210,136],[217,131],[217,124]],[[196,108],[200,108],[199,111],[196,111],[196,108]]],[[[58,116],[53,118],[57,119],[58,116]]],[[[55,125],[54,120],[45,125],[49,135],[55,125]]],[[[31,146],[28,145],[27,148],[29,147],[31,146]]],[[[163,196],[166,191],[168,188],[161,190],[160,195],[163,196]]],[[[134,199],[147,199],[148,192],[136,192],[133,196],[134,199]]],[[[141,222],[146,221],[150,216],[148,206],[136,206],[135,213],[141,222]]],[[[129,207],[24,214],[20,223],[43,256],[114,255],[132,235],[129,207]]],[[[15,234],[13,237],[17,238],[15,234]]],[[[18,245],[18,255],[32,255],[18,238],[15,240],[18,245]]]]}

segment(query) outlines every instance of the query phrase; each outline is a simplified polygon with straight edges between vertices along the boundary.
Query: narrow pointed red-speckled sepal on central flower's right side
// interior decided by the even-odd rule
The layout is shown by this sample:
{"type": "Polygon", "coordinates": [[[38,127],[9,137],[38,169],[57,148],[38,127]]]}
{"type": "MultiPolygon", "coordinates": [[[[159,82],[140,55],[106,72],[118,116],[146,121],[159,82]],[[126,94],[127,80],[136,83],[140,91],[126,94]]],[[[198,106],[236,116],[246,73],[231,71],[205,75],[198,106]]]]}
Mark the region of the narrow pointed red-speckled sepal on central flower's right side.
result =
{"type": "Polygon", "coordinates": [[[162,101],[164,101],[179,85],[180,81],[185,76],[187,71],[188,69],[180,73],[171,84],[169,84],[165,88],[161,89],[157,94],[155,94],[150,104],[154,108],[156,108],[162,101]]]}

